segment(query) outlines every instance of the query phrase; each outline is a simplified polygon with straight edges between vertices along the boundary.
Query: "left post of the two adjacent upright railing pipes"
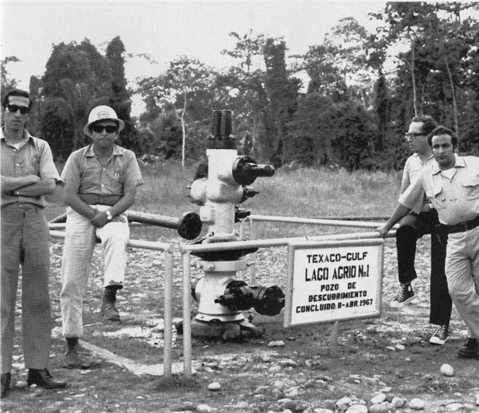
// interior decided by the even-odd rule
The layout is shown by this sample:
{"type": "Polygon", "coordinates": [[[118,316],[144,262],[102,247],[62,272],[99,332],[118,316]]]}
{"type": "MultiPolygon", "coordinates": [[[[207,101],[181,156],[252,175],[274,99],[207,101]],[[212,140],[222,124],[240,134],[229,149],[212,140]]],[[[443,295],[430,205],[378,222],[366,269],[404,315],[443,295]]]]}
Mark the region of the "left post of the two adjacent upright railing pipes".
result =
{"type": "Polygon", "coordinates": [[[171,378],[172,367],[172,331],[173,331],[173,253],[165,251],[165,332],[163,349],[163,375],[171,378]]]}

